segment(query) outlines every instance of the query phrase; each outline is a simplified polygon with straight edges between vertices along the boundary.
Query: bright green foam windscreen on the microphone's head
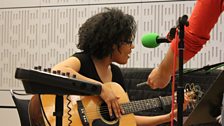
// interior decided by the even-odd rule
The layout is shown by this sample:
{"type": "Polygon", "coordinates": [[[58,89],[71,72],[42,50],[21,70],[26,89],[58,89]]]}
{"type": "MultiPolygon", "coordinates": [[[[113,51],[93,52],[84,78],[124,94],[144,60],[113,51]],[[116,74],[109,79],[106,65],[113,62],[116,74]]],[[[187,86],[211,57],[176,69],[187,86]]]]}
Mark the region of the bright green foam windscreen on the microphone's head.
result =
{"type": "Polygon", "coordinates": [[[159,46],[159,43],[157,43],[158,37],[159,35],[157,33],[147,33],[143,35],[141,39],[143,46],[148,48],[155,48],[159,46]]]}

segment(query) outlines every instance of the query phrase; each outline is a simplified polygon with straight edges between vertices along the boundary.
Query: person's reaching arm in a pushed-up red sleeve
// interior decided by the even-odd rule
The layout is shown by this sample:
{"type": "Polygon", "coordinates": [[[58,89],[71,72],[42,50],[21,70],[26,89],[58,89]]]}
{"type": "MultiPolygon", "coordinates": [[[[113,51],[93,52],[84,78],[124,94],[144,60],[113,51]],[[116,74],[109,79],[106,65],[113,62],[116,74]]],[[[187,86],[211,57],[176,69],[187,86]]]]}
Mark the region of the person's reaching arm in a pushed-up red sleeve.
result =
{"type": "MultiPolygon", "coordinates": [[[[189,26],[185,28],[184,63],[194,57],[210,39],[210,32],[224,9],[223,5],[223,0],[198,0],[196,2],[189,19],[189,26]]],[[[173,54],[178,42],[179,38],[176,35],[161,64],[158,68],[153,69],[148,76],[148,85],[153,89],[164,88],[170,81],[174,63],[173,54]]],[[[175,61],[177,66],[178,61],[177,57],[177,61],[175,61]]],[[[178,69],[177,66],[175,68],[176,70],[178,69]]]]}

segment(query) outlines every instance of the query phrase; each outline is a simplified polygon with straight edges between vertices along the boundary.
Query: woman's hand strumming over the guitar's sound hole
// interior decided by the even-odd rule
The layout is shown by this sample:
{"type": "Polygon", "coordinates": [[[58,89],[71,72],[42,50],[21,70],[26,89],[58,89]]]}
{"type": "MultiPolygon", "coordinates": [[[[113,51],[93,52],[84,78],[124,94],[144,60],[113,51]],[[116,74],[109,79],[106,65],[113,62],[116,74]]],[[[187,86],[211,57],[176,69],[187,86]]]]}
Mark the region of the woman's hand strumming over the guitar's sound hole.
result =
{"type": "Polygon", "coordinates": [[[102,91],[100,96],[106,102],[110,116],[112,117],[114,112],[117,118],[121,117],[122,109],[118,102],[119,97],[115,95],[110,87],[102,84],[102,91]]]}

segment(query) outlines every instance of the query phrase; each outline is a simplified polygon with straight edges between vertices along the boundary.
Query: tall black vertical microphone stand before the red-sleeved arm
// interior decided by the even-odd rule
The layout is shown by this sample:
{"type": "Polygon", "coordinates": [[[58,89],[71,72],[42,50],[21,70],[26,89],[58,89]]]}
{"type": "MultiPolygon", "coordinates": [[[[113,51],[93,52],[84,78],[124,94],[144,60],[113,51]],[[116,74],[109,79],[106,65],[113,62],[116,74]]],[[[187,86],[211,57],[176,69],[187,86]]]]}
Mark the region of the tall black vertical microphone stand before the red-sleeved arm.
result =
{"type": "Polygon", "coordinates": [[[188,26],[187,15],[182,16],[178,20],[178,33],[180,42],[178,44],[179,50],[179,84],[177,86],[177,124],[178,126],[183,125],[183,103],[184,103],[184,86],[183,86],[183,52],[184,52],[184,26],[188,26]]]}

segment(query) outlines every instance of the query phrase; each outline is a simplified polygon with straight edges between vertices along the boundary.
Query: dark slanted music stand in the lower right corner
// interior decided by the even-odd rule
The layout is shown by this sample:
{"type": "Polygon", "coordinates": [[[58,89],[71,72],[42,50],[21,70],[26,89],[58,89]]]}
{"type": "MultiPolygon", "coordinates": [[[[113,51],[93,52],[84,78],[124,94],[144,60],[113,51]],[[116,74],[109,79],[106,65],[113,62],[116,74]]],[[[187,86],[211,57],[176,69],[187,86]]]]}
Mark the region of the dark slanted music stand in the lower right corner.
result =
{"type": "Polygon", "coordinates": [[[224,71],[220,72],[195,109],[189,114],[184,126],[217,122],[216,117],[221,114],[223,92],[224,71]]]}

